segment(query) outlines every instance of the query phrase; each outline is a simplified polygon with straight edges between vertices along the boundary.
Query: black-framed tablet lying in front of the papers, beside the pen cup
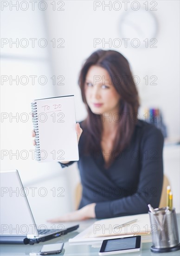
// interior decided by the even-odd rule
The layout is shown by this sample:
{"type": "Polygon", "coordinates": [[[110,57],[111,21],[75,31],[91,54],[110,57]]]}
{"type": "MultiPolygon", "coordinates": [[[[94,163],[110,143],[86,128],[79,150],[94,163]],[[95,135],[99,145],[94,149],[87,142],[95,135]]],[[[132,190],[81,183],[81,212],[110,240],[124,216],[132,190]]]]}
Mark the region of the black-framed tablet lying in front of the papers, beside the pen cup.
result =
{"type": "Polygon", "coordinates": [[[141,236],[129,236],[103,240],[99,255],[140,251],[141,236]]]}

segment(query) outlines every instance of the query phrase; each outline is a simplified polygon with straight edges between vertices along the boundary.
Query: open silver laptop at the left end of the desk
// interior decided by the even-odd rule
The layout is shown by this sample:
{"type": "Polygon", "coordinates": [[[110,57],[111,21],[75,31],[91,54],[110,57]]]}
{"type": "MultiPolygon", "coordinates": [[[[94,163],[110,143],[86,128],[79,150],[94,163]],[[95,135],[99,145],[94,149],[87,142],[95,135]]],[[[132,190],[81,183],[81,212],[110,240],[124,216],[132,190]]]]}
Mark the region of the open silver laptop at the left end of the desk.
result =
{"type": "Polygon", "coordinates": [[[0,171],[0,243],[34,244],[45,242],[76,230],[47,229],[36,225],[18,170],[0,171]]]}

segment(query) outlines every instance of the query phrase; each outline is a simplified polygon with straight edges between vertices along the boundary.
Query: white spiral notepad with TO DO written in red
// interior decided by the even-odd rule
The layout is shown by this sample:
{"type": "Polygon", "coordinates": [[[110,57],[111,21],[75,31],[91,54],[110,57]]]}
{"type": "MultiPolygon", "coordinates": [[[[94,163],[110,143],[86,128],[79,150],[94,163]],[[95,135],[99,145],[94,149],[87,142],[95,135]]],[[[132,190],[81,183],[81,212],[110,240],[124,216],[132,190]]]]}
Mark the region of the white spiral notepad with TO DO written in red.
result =
{"type": "Polygon", "coordinates": [[[36,160],[79,160],[74,95],[37,99],[31,106],[36,160]]]}

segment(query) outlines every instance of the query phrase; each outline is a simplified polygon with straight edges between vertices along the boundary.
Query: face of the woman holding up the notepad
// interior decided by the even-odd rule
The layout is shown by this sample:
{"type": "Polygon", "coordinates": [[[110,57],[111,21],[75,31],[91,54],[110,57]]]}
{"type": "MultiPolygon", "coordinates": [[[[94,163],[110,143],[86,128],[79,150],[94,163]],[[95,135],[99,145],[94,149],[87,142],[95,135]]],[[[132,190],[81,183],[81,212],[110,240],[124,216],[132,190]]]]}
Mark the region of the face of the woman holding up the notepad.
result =
{"type": "Polygon", "coordinates": [[[91,66],[85,79],[85,97],[93,113],[119,113],[120,95],[103,67],[91,66]]]}

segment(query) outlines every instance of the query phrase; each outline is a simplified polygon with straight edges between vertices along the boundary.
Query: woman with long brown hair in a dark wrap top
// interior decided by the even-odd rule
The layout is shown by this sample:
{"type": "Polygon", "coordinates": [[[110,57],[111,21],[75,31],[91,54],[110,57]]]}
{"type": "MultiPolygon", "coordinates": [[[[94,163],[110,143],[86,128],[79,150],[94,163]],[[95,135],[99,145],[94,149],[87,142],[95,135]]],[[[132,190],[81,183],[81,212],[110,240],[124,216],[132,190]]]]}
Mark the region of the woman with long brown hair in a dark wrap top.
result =
{"type": "Polygon", "coordinates": [[[128,61],[119,52],[97,50],[85,61],[79,86],[88,113],[76,124],[82,199],[77,211],[49,221],[147,213],[149,203],[157,208],[164,139],[159,129],[140,120],[128,61]]]}

